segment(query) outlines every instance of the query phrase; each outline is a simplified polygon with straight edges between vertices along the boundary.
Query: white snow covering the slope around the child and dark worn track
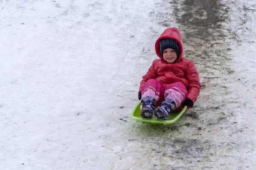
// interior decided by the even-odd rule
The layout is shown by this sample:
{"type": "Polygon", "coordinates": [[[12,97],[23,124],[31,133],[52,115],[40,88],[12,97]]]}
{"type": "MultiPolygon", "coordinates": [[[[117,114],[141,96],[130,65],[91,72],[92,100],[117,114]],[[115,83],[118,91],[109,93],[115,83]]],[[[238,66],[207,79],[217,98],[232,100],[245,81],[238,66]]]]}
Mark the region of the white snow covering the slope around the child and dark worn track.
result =
{"type": "Polygon", "coordinates": [[[221,2],[230,7],[225,27],[239,37],[227,47],[234,72],[218,82],[227,95],[203,91],[175,125],[195,127],[175,131],[130,118],[167,28],[158,23],[175,10],[168,1],[0,0],[0,169],[253,170],[256,2],[233,2],[221,2]],[[208,127],[215,101],[231,116],[208,127]],[[203,123],[186,116],[195,112],[203,123]],[[182,140],[186,150],[175,144],[182,140]]]}

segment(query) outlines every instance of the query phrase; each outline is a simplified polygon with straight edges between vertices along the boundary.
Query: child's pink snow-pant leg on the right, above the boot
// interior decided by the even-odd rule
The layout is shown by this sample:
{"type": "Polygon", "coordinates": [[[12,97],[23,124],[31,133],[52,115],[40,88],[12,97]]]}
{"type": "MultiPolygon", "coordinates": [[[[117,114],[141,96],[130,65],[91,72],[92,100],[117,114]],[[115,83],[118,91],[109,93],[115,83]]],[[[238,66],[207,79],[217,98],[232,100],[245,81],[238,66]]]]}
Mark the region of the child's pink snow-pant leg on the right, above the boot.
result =
{"type": "Polygon", "coordinates": [[[164,97],[168,97],[169,99],[174,99],[176,103],[176,108],[184,102],[187,91],[185,86],[181,82],[175,82],[171,85],[166,86],[166,91],[164,93],[164,97]]]}

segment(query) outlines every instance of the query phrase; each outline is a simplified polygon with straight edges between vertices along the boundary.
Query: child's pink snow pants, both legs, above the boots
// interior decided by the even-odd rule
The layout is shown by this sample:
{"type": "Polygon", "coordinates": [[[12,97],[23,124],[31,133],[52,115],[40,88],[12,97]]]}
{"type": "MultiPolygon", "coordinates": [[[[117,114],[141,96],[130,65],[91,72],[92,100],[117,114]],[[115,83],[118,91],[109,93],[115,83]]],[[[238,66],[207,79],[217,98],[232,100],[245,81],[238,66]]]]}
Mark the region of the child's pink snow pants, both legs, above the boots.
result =
{"type": "Polygon", "coordinates": [[[175,82],[166,87],[156,79],[149,79],[141,88],[141,98],[145,96],[154,97],[157,101],[156,107],[160,106],[163,99],[169,97],[174,99],[176,108],[178,108],[186,99],[187,91],[181,82],[175,82]]]}

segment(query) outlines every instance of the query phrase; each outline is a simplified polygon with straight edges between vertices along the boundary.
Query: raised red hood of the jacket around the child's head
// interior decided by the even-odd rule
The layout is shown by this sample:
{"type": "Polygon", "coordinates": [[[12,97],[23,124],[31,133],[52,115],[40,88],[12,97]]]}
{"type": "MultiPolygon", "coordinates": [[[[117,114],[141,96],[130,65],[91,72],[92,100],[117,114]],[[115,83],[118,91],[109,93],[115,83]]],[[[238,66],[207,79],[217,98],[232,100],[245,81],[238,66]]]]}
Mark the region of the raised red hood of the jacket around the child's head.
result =
{"type": "Polygon", "coordinates": [[[160,52],[160,40],[163,38],[173,39],[179,43],[180,56],[178,56],[178,59],[175,62],[180,61],[183,58],[183,42],[182,42],[182,38],[180,35],[180,31],[175,27],[167,28],[165,31],[163,31],[163,33],[157,39],[156,44],[155,44],[156,54],[160,59],[162,59],[164,61],[163,57],[161,56],[161,52],[160,52]]]}

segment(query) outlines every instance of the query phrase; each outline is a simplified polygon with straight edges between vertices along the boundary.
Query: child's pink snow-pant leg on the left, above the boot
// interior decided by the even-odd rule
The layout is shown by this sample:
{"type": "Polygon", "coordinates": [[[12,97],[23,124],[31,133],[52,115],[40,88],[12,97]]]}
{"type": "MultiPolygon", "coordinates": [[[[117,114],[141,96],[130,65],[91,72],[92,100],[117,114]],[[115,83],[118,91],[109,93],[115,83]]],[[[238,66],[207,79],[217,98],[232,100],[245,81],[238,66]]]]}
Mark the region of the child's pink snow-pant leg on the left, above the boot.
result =
{"type": "Polygon", "coordinates": [[[151,96],[156,101],[159,99],[163,100],[164,97],[164,86],[156,79],[149,79],[141,88],[141,98],[145,96],[151,96]]]}

